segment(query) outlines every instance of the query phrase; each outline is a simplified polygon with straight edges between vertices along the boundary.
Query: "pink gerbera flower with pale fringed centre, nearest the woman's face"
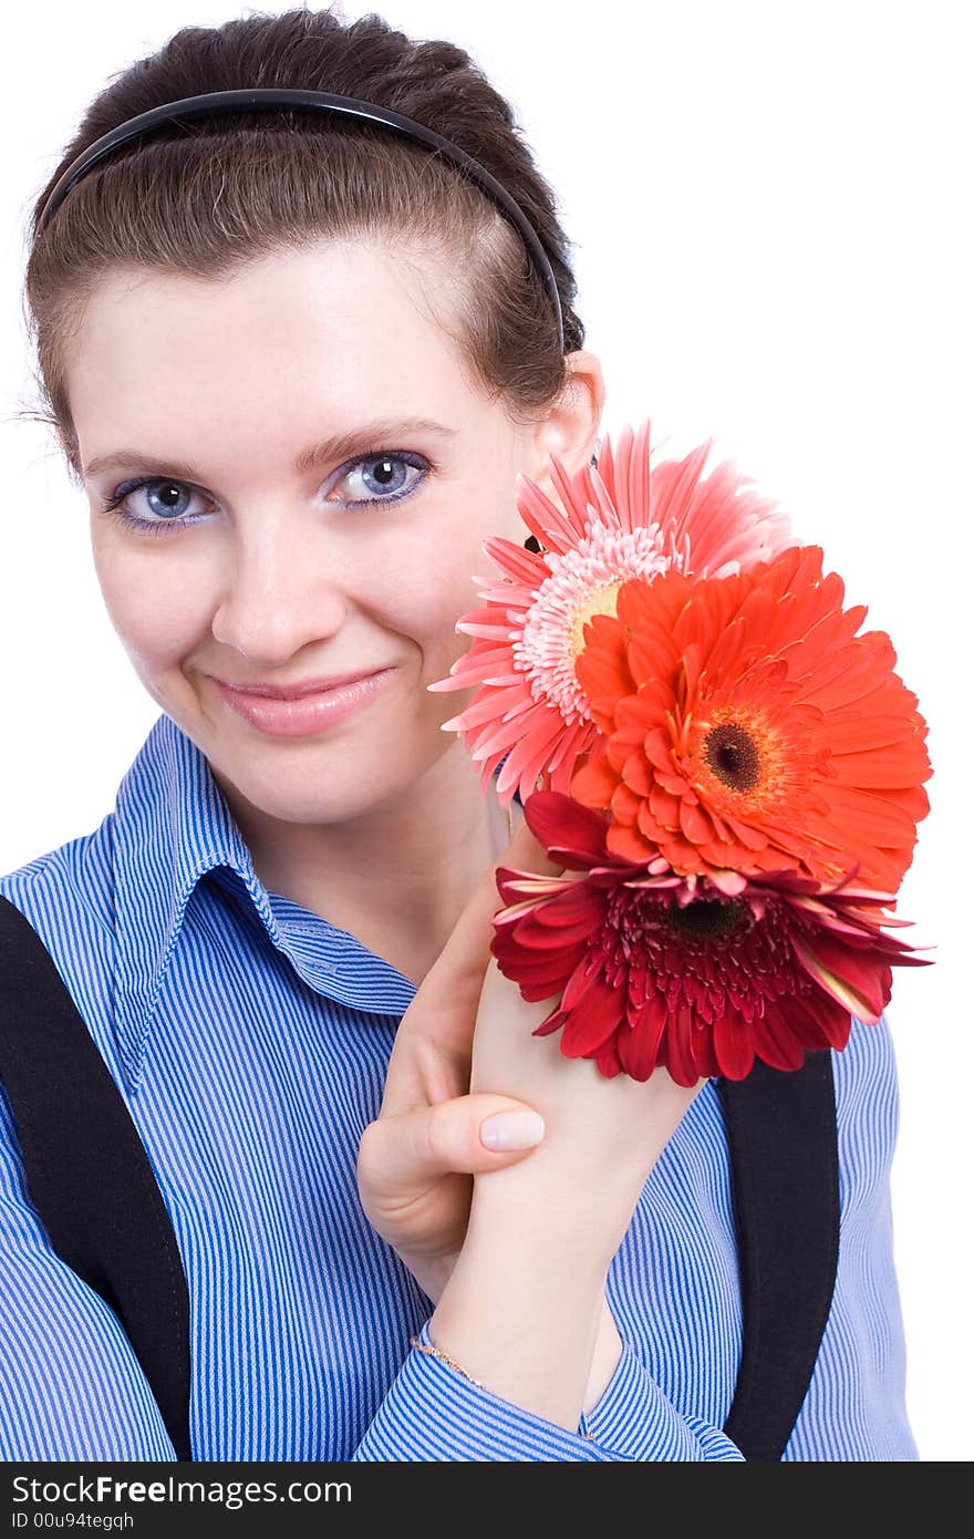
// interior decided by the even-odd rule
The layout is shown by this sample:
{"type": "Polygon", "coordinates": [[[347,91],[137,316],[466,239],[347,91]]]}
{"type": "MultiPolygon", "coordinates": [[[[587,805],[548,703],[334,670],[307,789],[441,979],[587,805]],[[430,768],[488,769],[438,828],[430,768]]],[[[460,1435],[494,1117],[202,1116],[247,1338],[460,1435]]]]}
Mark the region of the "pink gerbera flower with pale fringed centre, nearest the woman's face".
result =
{"type": "Polygon", "coordinates": [[[502,580],[480,593],[483,608],[457,622],[474,637],[469,651],[428,686],[480,686],[443,729],[463,734],[483,765],[482,785],[506,759],[495,782],[502,802],[515,791],[525,800],[540,777],[568,791],[579,757],[599,740],[575,659],[586,622],[615,614],[623,582],[669,568],[726,577],[794,543],[786,516],[732,463],[702,479],[712,442],[651,468],[646,422],[635,434],[623,428],[615,451],[605,439],[597,465],[574,477],[551,456],[563,508],[519,476],[517,508],[542,553],[500,536],[485,542],[502,580]]]}

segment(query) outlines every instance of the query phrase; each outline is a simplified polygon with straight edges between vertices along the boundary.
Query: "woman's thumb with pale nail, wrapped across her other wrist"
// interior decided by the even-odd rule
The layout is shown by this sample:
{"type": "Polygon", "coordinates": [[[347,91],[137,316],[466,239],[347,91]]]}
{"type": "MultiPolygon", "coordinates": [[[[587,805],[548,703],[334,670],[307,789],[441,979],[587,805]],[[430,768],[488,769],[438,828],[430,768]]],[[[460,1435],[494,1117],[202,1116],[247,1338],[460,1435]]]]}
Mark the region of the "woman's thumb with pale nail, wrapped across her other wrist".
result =
{"type": "Polygon", "coordinates": [[[380,1116],[359,1147],[359,1179],[383,1203],[402,1203],[443,1176],[477,1174],[523,1159],[545,1136],[523,1100],[482,1093],[380,1116]],[[497,1140],[497,1147],[489,1142],[497,1140]]]}

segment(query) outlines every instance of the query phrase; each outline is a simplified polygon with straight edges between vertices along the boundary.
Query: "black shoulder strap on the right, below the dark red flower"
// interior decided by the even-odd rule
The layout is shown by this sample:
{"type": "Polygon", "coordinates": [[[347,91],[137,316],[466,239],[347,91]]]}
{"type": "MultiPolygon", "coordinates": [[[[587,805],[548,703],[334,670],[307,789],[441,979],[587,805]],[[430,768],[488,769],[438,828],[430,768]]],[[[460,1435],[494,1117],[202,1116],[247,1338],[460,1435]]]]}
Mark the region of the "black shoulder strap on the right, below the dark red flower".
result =
{"type": "Polygon", "coordinates": [[[743,1308],[725,1433],[777,1462],[808,1393],[839,1265],[839,1143],[831,1051],[800,1070],[756,1062],[720,1080],[743,1308]]]}

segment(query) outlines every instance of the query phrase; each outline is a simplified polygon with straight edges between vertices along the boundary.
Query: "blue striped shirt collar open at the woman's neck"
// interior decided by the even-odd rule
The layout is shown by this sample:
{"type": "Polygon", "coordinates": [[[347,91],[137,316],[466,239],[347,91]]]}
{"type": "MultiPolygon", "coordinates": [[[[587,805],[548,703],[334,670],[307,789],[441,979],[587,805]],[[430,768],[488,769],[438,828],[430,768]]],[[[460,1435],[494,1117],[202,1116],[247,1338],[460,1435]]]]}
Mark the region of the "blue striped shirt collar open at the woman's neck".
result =
{"type": "Polygon", "coordinates": [[[142,1082],[186,905],[208,871],[226,868],[220,883],[235,886],[271,945],[311,988],[354,1008],[399,1016],[415,996],[415,985],[355,936],[268,893],[206,756],[169,716],[157,719],[118,786],[112,863],[115,1036],[131,1093],[142,1082]]]}

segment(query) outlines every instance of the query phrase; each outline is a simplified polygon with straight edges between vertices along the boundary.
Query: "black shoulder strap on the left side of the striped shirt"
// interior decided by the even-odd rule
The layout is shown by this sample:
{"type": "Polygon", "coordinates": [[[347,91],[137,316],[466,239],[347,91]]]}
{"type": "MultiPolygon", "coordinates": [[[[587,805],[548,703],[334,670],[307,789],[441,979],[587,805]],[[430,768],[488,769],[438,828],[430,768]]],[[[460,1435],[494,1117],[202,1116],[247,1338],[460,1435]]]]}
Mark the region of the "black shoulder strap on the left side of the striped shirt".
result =
{"type": "Polygon", "coordinates": [[[178,1459],[189,1447],[189,1290],[138,1131],[28,919],[0,896],[0,1076],[54,1250],[115,1311],[178,1459]]]}

